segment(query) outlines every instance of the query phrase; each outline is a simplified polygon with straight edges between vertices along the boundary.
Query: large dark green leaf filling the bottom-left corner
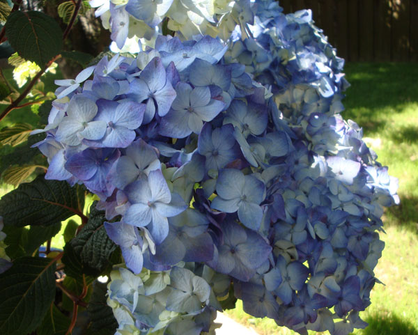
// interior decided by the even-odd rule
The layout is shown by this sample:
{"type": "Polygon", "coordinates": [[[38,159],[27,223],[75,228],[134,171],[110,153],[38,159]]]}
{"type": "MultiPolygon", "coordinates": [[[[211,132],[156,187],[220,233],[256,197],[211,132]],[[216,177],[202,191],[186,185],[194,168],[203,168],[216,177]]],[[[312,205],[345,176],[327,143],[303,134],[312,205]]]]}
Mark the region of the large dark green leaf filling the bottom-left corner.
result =
{"type": "Polygon", "coordinates": [[[55,298],[56,262],[47,258],[18,258],[0,274],[0,334],[32,332],[55,298]]]}

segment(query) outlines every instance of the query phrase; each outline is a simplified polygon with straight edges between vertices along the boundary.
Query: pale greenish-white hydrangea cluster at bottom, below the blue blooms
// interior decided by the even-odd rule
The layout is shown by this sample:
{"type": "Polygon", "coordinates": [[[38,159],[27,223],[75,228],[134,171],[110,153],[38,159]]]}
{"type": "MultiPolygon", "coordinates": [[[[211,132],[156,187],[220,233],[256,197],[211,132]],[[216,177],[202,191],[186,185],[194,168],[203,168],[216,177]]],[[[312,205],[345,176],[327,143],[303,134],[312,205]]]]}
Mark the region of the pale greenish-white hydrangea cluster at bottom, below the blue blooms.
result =
{"type": "Polygon", "coordinates": [[[171,335],[215,334],[215,292],[229,289],[229,279],[210,287],[213,271],[202,265],[172,267],[153,272],[144,269],[132,274],[120,268],[111,272],[108,304],[118,321],[116,334],[147,334],[158,332],[171,335]]]}

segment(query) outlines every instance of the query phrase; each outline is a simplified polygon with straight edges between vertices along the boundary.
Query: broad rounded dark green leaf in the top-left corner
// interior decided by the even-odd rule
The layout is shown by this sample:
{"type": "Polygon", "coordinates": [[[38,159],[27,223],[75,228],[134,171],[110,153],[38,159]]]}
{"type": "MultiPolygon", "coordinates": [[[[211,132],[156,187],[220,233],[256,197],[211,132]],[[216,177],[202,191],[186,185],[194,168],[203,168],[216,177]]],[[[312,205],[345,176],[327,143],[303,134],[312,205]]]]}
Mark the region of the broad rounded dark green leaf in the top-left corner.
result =
{"type": "Polygon", "coordinates": [[[17,10],[9,15],[5,29],[13,49],[40,68],[63,48],[63,33],[59,24],[42,12],[17,10]]]}

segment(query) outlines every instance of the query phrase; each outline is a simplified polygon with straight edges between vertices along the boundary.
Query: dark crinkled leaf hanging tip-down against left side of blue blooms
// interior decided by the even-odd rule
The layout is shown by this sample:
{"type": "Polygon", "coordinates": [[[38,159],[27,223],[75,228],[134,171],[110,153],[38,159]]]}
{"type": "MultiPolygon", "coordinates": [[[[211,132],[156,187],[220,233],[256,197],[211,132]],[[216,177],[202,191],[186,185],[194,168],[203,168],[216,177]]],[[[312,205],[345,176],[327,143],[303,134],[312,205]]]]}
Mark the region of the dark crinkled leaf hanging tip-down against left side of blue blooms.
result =
{"type": "Polygon", "coordinates": [[[116,249],[116,244],[109,239],[104,229],[104,212],[95,210],[95,203],[91,207],[93,210],[87,224],[70,241],[70,245],[79,256],[84,273],[98,276],[109,265],[109,258],[116,249]]]}

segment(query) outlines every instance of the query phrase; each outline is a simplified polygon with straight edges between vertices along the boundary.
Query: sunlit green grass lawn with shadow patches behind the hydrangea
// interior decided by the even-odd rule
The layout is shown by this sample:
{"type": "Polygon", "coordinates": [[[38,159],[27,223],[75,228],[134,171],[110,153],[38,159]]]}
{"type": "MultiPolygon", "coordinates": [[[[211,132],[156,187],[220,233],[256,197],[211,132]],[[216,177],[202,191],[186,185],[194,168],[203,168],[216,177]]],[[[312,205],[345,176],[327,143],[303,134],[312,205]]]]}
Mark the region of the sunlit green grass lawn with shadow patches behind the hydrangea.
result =
{"type": "MultiPolygon", "coordinates": [[[[369,327],[354,334],[418,335],[418,64],[348,63],[346,75],[352,86],[343,117],[363,127],[378,161],[399,179],[401,197],[384,217],[386,247],[376,276],[385,286],[373,288],[362,313],[369,327]]],[[[242,304],[226,314],[260,334],[295,334],[273,320],[251,318],[242,304]]]]}

